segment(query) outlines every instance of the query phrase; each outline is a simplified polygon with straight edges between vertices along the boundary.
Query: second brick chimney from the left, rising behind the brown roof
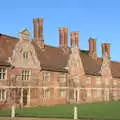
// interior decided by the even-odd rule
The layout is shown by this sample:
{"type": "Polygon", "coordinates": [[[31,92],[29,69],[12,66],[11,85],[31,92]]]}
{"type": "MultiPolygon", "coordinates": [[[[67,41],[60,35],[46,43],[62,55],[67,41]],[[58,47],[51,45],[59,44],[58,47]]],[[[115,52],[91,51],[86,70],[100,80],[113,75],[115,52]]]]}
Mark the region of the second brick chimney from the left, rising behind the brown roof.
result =
{"type": "Polygon", "coordinates": [[[61,48],[68,48],[68,28],[59,29],[59,45],[61,48]]]}

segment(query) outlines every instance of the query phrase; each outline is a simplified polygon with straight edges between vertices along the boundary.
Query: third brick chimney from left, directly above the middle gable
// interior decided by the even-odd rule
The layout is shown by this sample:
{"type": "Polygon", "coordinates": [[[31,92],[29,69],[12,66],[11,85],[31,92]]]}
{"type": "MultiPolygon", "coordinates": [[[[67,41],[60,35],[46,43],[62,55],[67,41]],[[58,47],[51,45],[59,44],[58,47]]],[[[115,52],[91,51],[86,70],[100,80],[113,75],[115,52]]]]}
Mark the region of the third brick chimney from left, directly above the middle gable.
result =
{"type": "Polygon", "coordinates": [[[71,46],[79,47],[79,32],[71,33],[71,46]]]}

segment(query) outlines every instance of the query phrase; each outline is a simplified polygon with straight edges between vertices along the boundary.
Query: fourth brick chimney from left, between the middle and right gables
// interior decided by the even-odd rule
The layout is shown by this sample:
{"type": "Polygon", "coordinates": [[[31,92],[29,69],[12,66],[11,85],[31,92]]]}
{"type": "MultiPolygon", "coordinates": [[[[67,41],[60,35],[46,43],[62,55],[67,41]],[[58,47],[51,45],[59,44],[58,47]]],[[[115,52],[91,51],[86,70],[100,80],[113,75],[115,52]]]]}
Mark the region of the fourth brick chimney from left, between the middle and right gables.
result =
{"type": "Polygon", "coordinates": [[[93,58],[97,57],[97,52],[96,52],[96,39],[95,38],[89,38],[89,55],[92,56],[93,58]]]}

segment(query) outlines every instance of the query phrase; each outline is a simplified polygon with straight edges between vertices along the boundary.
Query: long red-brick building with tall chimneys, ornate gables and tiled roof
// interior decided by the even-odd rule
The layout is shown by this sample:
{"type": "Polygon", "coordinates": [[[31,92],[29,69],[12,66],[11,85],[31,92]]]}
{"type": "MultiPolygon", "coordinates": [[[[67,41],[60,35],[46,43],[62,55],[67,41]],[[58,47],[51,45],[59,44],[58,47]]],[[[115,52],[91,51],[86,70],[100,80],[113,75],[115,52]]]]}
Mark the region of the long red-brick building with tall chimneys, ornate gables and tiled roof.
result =
{"type": "MultiPolygon", "coordinates": [[[[120,62],[111,61],[110,44],[96,39],[79,47],[79,32],[59,28],[59,46],[45,44],[43,19],[33,20],[34,37],[0,34],[0,106],[43,106],[120,100],[120,62]]],[[[82,40],[81,40],[82,42],[82,40]]]]}

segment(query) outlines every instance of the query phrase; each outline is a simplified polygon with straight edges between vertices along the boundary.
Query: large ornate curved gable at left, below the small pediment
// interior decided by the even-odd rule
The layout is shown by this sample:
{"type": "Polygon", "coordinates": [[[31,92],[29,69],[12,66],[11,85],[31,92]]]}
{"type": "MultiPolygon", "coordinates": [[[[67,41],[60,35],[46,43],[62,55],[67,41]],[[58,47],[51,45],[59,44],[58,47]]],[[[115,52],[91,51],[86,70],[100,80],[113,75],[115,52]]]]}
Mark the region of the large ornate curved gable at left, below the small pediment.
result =
{"type": "Polygon", "coordinates": [[[12,57],[9,58],[9,62],[13,66],[20,68],[40,68],[35,49],[29,40],[19,40],[15,45],[12,57]]]}

